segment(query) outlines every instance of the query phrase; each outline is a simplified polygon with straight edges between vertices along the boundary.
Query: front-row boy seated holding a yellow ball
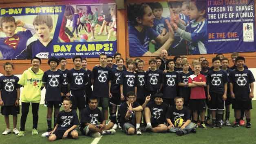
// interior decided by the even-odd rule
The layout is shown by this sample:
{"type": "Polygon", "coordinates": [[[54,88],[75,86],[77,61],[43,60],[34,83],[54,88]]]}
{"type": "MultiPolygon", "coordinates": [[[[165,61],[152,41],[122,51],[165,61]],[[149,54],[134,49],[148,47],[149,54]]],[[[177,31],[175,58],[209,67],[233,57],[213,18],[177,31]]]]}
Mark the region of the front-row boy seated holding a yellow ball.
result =
{"type": "Polygon", "coordinates": [[[174,103],[176,107],[170,107],[166,114],[169,131],[180,136],[186,133],[196,133],[196,125],[191,123],[190,112],[186,107],[183,107],[184,99],[176,97],[174,103]]]}

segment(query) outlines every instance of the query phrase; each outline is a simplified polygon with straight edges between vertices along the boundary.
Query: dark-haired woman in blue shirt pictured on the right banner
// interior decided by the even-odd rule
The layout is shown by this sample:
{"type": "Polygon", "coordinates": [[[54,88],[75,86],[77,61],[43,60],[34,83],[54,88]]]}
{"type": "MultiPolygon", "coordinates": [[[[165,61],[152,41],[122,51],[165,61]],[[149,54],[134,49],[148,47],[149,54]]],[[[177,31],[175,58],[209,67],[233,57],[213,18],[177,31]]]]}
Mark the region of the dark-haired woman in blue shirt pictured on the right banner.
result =
{"type": "Polygon", "coordinates": [[[161,36],[152,29],[154,15],[148,4],[132,4],[128,6],[128,13],[130,56],[159,56],[163,49],[169,49],[174,40],[174,33],[169,26],[169,21],[166,21],[169,33],[161,36]],[[149,51],[149,43],[152,39],[163,44],[153,53],[149,51]]]}

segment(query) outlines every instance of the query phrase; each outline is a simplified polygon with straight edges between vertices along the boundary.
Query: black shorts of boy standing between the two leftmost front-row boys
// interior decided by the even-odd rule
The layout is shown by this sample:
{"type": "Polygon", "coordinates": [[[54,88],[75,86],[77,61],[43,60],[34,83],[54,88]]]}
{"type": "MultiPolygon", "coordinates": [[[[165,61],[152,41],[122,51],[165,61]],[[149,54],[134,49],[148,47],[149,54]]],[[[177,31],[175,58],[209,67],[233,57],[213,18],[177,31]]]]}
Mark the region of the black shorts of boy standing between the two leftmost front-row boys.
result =
{"type": "Polygon", "coordinates": [[[71,90],[72,110],[82,110],[86,107],[86,96],[84,90],[71,90]]]}

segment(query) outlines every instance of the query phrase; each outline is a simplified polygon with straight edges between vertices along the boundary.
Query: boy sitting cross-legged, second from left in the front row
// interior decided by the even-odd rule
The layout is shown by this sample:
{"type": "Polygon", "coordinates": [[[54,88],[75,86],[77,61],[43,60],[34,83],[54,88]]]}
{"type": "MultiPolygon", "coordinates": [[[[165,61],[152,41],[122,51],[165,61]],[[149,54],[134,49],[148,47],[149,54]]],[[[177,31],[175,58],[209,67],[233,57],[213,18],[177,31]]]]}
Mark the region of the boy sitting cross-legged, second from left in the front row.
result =
{"type": "Polygon", "coordinates": [[[98,108],[98,99],[90,97],[88,104],[89,106],[85,107],[81,114],[81,133],[92,137],[115,134],[115,129],[112,129],[114,123],[106,124],[106,120],[102,117],[102,112],[98,108]]]}

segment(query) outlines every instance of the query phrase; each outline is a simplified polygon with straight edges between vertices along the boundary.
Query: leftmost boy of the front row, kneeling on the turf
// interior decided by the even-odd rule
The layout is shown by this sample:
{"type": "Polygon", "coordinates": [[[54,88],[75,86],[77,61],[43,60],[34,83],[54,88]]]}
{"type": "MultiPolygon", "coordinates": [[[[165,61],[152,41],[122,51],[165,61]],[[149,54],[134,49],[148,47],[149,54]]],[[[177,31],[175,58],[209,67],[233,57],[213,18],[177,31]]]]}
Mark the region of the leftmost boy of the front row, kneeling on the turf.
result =
{"type": "Polygon", "coordinates": [[[77,139],[78,133],[75,130],[79,125],[77,113],[71,110],[72,102],[68,98],[63,99],[63,108],[57,117],[57,123],[53,131],[49,132],[49,141],[65,139],[67,137],[77,139]]]}

